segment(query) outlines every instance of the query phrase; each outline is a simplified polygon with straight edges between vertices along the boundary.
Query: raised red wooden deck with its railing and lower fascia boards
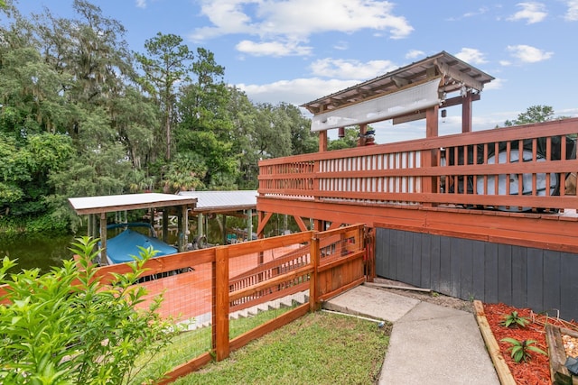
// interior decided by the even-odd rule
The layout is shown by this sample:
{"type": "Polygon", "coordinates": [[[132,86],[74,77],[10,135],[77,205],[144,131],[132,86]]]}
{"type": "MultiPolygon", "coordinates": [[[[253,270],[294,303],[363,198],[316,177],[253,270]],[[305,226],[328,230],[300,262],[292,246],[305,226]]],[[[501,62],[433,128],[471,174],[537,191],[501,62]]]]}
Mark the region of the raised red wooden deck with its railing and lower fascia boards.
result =
{"type": "Polygon", "coordinates": [[[564,191],[576,133],[574,118],[262,160],[259,230],[279,213],[302,228],[312,218],[317,229],[363,223],[578,252],[578,198],[564,191]],[[520,149],[529,160],[514,160],[520,149]],[[506,161],[490,162],[497,151],[506,161]],[[510,179],[501,193],[500,179],[510,179]]]}

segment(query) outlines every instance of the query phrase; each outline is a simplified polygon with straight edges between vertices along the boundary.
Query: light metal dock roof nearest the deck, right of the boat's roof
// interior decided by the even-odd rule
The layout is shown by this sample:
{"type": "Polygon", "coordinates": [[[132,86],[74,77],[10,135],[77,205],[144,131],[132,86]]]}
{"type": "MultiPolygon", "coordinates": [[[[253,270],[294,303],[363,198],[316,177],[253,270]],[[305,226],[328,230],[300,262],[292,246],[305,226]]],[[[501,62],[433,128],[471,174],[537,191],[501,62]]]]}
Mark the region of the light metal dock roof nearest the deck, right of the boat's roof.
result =
{"type": "Polygon", "coordinates": [[[182,191],[179,196],[197,198],[197,213],[228,213],[256,209],[256,190],[182,191]]]}

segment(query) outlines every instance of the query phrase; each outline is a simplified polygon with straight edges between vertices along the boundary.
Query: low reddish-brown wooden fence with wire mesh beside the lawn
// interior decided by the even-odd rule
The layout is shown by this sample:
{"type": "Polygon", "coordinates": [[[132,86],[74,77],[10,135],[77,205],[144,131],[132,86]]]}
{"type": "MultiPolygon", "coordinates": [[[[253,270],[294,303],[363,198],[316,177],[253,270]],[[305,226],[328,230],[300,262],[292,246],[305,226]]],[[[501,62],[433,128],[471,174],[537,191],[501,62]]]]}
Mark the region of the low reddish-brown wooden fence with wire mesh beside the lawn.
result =
{"type": "MultiPolygon", "coordinates": [[[[180,252],[147,261],[143,275],[186,272],[141,283],[148,289],[148,300],[141,305],[146,307],[150,300],[163,295],[159,309],[163,316],[182,321],[210,312],[212,328],[210,353],[182,363],[157,383],[170,383],[214,358],[222,360],[230,351],[319,308],[322,300],[363,282],[366,257],[363,234],[364,225],[350,225],[322,233],[310,231],[180,252]],[[273,251],[281,255],[258,262],[258,257],[273,251]],[[244,335],[229,338],[231,312],[296,291],[308,291],[309,302],[244,335]]],[[[98,268],[95,279],[106,284],[114,280],[114,274],[129,271],[131,268],[125,263],[105,266],[98,268]]],[[[9,296],[9,292],[0,287],[0,297],[4,296],[9,296]]],[[[9,302],[10,298],[5,297],[2,303],[9,302]]]]}

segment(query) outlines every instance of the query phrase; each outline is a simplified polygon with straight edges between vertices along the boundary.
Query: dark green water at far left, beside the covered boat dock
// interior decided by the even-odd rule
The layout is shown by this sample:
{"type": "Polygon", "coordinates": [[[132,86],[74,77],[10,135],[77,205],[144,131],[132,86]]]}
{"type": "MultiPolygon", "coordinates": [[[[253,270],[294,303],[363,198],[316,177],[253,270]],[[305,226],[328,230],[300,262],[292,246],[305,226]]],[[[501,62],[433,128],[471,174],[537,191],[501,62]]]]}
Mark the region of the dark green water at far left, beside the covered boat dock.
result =
{"type": "Polygon", "coordinates": [[[62,260],[72,258],[70,243],[74,235],[26,234],[0,237],[0,258],[17,259],[11,272],[39,268],[42,272],[62,266],[62,260]]]}

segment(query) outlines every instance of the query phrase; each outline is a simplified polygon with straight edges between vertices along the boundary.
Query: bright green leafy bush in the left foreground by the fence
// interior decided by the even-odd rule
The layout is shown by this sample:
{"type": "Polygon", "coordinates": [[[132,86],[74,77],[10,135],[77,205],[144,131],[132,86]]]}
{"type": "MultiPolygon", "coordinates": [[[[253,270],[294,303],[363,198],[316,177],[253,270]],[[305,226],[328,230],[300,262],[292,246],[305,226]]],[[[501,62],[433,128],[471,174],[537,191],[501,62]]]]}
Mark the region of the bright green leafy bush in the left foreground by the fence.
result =
{"type": "Polygon", "coordinates": [[[9,300],[0,305],[0,380],[11,384],[124,384],[135,375],[135,360],[149,359],[169,344],[177,328],[156,309],[142,303],[146,290],[134,286],[151,249],[131,264],[127,274],[114,274],[105,285],[92,260],[98,240],[77,239],[71,250],[77,262],[40,274],[23,270],[8,275],[15,262],[7,257],[0,283],[9,300]],[[140,306],[139,306],[140,305],[140,306]]]}

